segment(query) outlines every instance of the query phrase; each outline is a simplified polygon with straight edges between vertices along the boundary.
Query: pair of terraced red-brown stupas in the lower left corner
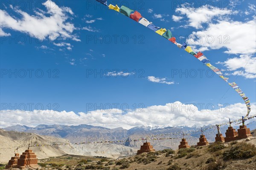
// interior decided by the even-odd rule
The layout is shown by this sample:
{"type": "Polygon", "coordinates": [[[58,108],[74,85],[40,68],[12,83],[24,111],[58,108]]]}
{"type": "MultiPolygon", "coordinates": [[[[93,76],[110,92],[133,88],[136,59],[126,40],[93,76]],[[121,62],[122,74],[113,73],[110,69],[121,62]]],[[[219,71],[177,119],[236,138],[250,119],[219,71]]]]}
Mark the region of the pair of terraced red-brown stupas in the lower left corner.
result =
{"type": "MultiPolygon", "coordinates": [[[[16,150],[15,150],[16,151],[16,150]]],[[[6,169],[9,168],[32,168],[37,169],[38,166],[38,158],[36,157],[35,153],[32,150],[25,150],[22,155],[15,153],[15,156],[9,160],[8,164],[6,165],[6,169]]]]}

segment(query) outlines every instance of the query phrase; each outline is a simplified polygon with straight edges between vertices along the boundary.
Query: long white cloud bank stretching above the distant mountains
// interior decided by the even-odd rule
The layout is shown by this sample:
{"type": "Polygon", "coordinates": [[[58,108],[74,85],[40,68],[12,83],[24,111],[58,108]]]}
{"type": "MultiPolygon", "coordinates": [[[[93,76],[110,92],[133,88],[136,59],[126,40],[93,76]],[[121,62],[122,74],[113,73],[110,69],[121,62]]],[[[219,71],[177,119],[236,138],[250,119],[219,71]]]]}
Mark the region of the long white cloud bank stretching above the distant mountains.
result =
{"type": "MultiPolygon", "coordinates": [[[[25,125],[36,126],[38,124],[64,124],[79,125],[90,124],[108,128],[123,127],[130,129],[135,126],[189,126],[194,124],[203,126],[237,120],[247,112],[245,104],[231,104],[229,108],[218,107],[207,110],[192,104],[182,104],[179,101],[165,105],[150,106],[137,110],[123,112],[120,108],[111,110],[95,110],[87,113],[79,112],[54,112],[42,111],[15,111],[3,110],[0,112],[2,127],[16,125],[22,122],[25,125]]],[[[132,107],[131,107],[132,108],[132,107]]],[[[256,106],[252,104],[251,114],[255,114],[256,106]]]]}

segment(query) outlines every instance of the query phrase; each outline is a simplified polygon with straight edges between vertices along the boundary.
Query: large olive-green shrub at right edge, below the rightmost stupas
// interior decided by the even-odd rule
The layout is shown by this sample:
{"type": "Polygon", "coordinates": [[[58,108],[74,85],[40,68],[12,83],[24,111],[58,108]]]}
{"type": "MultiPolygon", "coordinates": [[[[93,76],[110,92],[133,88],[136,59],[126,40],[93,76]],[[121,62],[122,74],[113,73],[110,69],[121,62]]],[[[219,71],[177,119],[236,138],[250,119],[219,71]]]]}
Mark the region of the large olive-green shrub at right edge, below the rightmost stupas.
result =
{"type": "Polygon", "coordinates": [[[224,160],[251,158],[256,155],[256,147],[250,143],[238,143],[224,151],[222,155],[224,160]]]}

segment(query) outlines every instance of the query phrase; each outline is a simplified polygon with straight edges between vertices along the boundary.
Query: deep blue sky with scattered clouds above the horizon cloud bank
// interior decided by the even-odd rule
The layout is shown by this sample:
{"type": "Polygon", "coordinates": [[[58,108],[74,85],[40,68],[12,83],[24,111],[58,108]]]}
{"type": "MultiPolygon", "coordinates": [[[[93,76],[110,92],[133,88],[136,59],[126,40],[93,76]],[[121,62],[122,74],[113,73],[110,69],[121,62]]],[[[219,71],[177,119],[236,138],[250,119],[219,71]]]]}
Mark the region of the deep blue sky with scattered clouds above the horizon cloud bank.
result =
{"type": "MultiPolygon", "coordinates": [[[[215,37],[211,44],[203,39],[203,43],[196,41],[191,46],[195,52],[203,52],[212,65],[227,70],[229,82],[236,81],[250,98],[251,104],[255,105],[256,68],[253,52],[256,35],[251,32],[255,30],[255,1],[213,1],[213,4],[208,4],[213,6],[208,7],[199,1],[194,1],[195,4],[166,0],[118,1],[117,4],[121,6],[127,2],[128,7],[140,12],[155,26],[170,29],[178,43],[189,43],[186,37],[191,34],[215,37]],[[188,5],[198,8],[188,8],[188,5]],[[221,43],[216,38],[219,35],[222,37],[221,43]],[[229,36],[229,44],[223,43],[225,35],[229,36]]],[[[215,106],[214,110],[218,110],[218,104],[229,104],[234,108],[236,104],[243,104],[240,96],[226,82],[217,75],[212,77],[213,72],[195,57],[96,1],[38,1],[32,3],[31,8],[28,4],[25,8],[22,5],[17,1],[1,1],[1,111],[19,109],[18,106],[24,108],[22,105],[25,104],[29,112],[30,103],[32,110],[40,104],[44,110],[49,109],[50,105],[50,109],[76,114],[96,110],[98,108],[95,106],[101,104],[105,108],[111,104],[113,108],[114,103],[119,104],[117,109],[121,109],[122,104],[133,109],[134,104],[136,108],[148,108],[179,101],[197,106],[204,103],[202,109],[207,109],[205,105],[211,104],[215,106]],[[54,4],[58,12],[55,10],[55,14],[51,13],[53,9],[47,9],[47,4],[54,4]],[[10,17],[18,23],[7,21],[10,17]],[[33,20],[29,20],[29,17],[33,20]],[[51,23],[54,20],[59,24],[51,23]],[[50,40],[51,35],[58,36],[50,40]],[[116,42],[114,37],[117,37],[116,42]],[[32,69],[31,78],[29,69],[32,69]],[[17,78],[15,74],[9,75],[15,70],[17,78]],[[102,74],[94,75],[101,71],[102,74]],[[129,75],[122,75],[127,71],[129,75]],[[44,75],[39,78],[41,72],[44,75]],[[181,72],[186,74],[180,75],[181,72]],[[93,107],[88,107],[88,104],[93,104],[93,107]]],[[[246,114],[246,108],[240,109],[234,118],[246,114]]],[[[255,114],[255,110],[251,114],[255,114]]],[[[99,116],[105,115],[102,112],[99,116]]],[[[189,122],[188,117],[186,120],[189,122]]],[[[17,124],[19,120],[12,118],[1,120],[2,126],[17,124]]],[[[21,116],[20,120],[23,119],[26,116],[21,116]]],[[[84,123],[94,124],[94,121],[84,123]]],[[[138,122],[127,124],[126,127],[145,125],[138,122]]],[[[32,124],[41,123],[44,121],[36,120],[32,124]]],[[[83,122],[70,124],[78,123],[83,122]]],[[[212,122],[203,120],[201,123],[212,122]]],[[[112,127],[104,121],[102,125],[112,127]]]]}

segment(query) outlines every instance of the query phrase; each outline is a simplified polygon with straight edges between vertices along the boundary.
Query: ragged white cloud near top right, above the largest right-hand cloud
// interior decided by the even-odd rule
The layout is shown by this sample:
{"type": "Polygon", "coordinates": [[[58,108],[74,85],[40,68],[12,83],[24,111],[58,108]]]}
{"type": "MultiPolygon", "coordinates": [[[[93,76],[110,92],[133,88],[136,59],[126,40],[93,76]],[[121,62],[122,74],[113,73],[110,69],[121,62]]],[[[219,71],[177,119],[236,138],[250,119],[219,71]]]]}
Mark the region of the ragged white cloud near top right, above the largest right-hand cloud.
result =
{"type": "MultiPolygon", "coordinates": [[[[182,4],[180,8],[175,9],[175,12],[182,15],[186,15],[188,18],[188,25],[195,27],[196,29],[203,28],[203,23],[211,23],[214,17],[218,17],[218,20],[224,15],[234,14],[232,10],[219,9],[217,7],[211,7],[205,5],[200,8],[188,8],[186,4],[182,4]]],[[[180,17],[180,16],[175,16],[180,17]]]]}

